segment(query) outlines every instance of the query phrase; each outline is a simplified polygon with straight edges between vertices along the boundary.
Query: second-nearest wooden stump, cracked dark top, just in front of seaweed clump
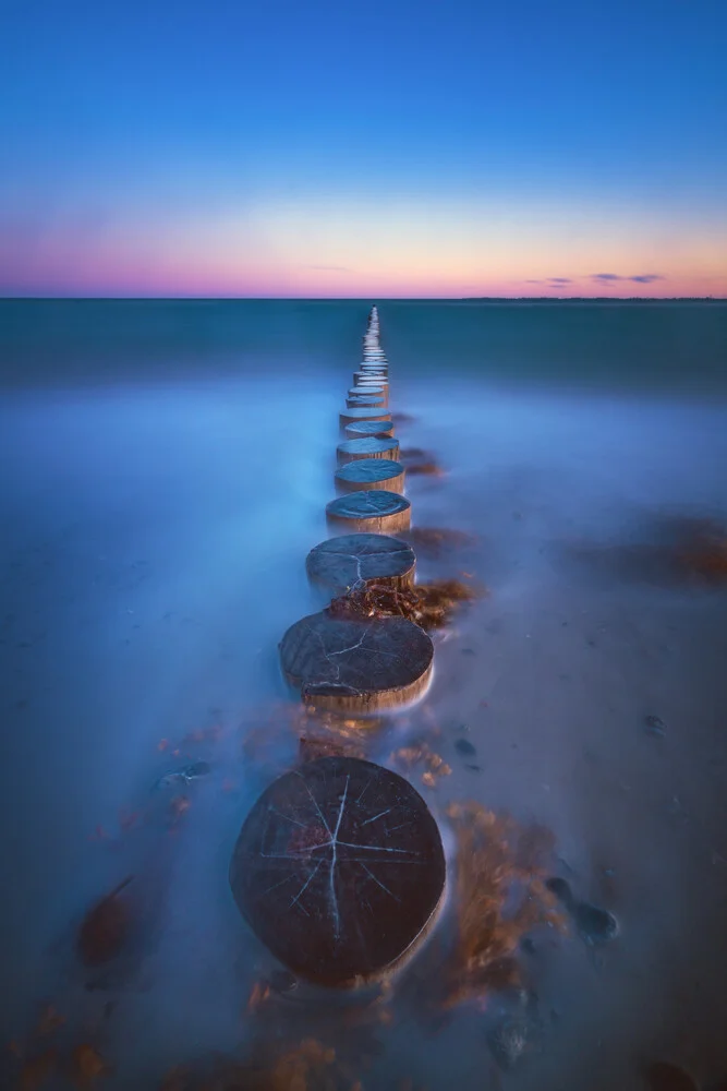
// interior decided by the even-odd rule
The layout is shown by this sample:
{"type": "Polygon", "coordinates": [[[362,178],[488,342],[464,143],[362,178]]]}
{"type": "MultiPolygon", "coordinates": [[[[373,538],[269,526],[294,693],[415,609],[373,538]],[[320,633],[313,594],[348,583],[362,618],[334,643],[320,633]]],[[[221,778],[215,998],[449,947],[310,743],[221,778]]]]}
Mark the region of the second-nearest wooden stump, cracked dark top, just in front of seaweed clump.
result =
{"type": "Polygon", "coordinates": [[[323,610],[295,622],[280,642],[287,682],[329,711],[365,714],[408,704],[426,688],[433,658],[424,630],[397,616],[332,618],[323,610]]]}

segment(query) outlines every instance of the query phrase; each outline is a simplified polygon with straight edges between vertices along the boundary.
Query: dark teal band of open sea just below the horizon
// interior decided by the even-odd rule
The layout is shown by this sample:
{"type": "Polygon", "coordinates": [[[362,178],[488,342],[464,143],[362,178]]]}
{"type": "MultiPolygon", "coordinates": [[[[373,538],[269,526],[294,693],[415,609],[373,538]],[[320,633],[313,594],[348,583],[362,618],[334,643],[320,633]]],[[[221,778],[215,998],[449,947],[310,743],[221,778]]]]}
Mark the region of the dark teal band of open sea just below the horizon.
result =
{"type": "MultiPolygon", "coordinates": [[[[726,301],[399,301],[383,305],[401,375],[667,389],[727,384],[726,301]]],[[[335,369],[367,300],[1,300],[0,381],[102,383],[335,369]]]]}

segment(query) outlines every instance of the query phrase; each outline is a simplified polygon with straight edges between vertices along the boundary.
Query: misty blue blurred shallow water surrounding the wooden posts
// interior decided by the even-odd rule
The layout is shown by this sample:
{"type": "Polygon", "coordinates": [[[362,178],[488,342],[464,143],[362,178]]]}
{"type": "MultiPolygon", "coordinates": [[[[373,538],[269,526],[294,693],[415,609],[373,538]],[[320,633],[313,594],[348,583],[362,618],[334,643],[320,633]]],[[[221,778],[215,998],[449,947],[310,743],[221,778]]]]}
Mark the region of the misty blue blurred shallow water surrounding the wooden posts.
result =
{"type": "MultiPolygon", "coordinates": [[[[360,1028],[353,1043],[341,998],[338,1015],[305,990],[247,1010],[272,967],[238,915],[228,864],[251,804],[295,757],[295,703],[276,649],[320,604],[304,561],[327,537],[337,413],[367,310],[320,308],[291,304],[277,364],[274,325],[270,344],[257,329],[240,359],[226,345],[210,373],[209,346],[190,348],[174,320],[166,356],[168,326],[154,345],[137,329],[148,351],[128,365],[121,353],[113,368],[98,331],[90,350],[50,325],[41,352],[40,334],[33,350],[29,335],[15,337],[0,408],[5,1038],[23,1048],[50,1002],[66,1019],[63,1047],[93,1042],[113,1065],[109,1088],[154,1088],[174,1064],[303,1032],[350,1051],[365,1088],[411,1079],[431,1091],[628,1091],[644,1086],[639,1066],[654,1059],[716,1083],[727,1074],[726,592],[627,578],[575,547],[631,542],[664,513],[727,521],[727,401],[714,393],[725,343],[712,345],[704,369],[710,400],[675,396],[681,349],[668,382],[654,382],[652,364],[635,384],[615,367],[609,383],[608,353],[637,358],[643,339],[626,319],[614,327],[620,341],[613,328],[607,347],[593,349],[594,384],[556,367],[553,345],[540,368],[530,345],[529,367],[493,370],[482,332],[459,368],[441,346],[457,329],[461,344],[464,307],[439,325],[436,307],[380,307],[391,408],[414,418],[397,435],[446,471],[409,479],[413,524],[476,537],[420,559],[419,577],[465,571],[489,594],[437,638],[424,702],[391,717],[368,750],[391,764],[393,751],[425,738],[451,766],[433,789],[423,767],[409,772],[450,861],[451,801],[547,827],[548,866],[575,897],[616,914],[618,937],[590,947],[575,934],[533,933],[519,959],[537,1034],[507,1072],[490,1032],[512,1017],[509,995],[492,993],[484,1011],[463,1006],[435,1028],[404,974],[392,1021],[360,1028]],[[292,327],[307,331],[298,349],[292,327]],[[53,338],[70,362],[51,385],[53,338]],[[663,734],[644,729],[647,716],[663,734]],[[474,756],[457,748],[461,740],[474,756]],[[153,790],[194,759],[210,763],[208,777],[153,790]],[[189,811],[171,822],[175,795],[189,811]],[[129,819],[140,814],[146,825],[129,819]],[[148,890],[156,925],[118,980],[88,992],[74,928],[128,874],[148,890]]],[[[509,313],[522,348],[532,337],[509,313]]],[[[708,313],[703,346],[722,328],[708,313]]],[[[699,317],[690,321],[699,333],[699,317]]],[[[574,351],[571,326],[567,317],[559,327],[562,359],[574,351]]],[[[451,910],[451,884],[448,897],[451,910]]],[[[427,951],[432,942],[408,969],[414,979],[427,951]]]]}

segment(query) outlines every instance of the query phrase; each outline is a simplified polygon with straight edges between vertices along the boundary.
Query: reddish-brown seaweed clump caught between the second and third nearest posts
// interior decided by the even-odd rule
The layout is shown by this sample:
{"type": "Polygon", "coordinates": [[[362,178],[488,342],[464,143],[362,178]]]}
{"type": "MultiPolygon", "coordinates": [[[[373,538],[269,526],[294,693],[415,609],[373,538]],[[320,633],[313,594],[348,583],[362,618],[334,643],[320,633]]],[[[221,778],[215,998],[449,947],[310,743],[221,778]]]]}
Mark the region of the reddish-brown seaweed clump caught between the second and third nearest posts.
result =
{"type": "Polygon", "coordinates": [[[471,602],[477,591],[459,579],[437,579],[413,587],[365,584],[334,599],[331,618],[387,618],[399,615],[422,628],[441,628],[461,602],[471,602]]]}

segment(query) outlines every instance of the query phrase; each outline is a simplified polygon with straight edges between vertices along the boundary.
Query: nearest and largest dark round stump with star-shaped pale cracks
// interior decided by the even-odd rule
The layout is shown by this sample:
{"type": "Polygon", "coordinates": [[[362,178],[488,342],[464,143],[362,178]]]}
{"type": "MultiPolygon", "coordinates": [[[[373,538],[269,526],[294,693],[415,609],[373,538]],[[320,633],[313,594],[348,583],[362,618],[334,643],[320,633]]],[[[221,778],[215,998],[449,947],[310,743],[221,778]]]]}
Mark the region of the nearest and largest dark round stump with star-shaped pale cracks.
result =
{"type": "Polygon", "coordinates": [[[238,909],[316,984],[375,980],[436,919],[446,864],[426,803],[397,774],[324,757],[284,774],[245,819],[230,864],[238,909]]]}

